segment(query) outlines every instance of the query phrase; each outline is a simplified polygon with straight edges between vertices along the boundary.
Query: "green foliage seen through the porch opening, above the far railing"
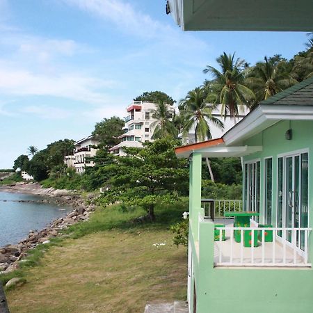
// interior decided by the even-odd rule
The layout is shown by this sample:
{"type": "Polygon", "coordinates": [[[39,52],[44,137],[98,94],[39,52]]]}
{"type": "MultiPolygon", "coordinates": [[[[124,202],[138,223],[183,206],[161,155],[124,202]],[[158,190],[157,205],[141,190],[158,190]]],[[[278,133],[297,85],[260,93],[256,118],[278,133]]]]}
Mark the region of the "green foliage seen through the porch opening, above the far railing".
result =
{"type": "Polygon", "coordinates": [[[211,182],[211,180],[202,180],[202,198],[211,198],[216,200],[229,199],[241,200],[241,185],[225,185],[211,182]]]}

